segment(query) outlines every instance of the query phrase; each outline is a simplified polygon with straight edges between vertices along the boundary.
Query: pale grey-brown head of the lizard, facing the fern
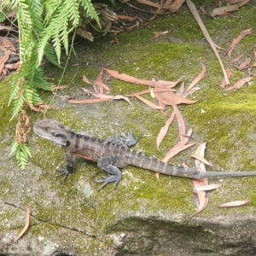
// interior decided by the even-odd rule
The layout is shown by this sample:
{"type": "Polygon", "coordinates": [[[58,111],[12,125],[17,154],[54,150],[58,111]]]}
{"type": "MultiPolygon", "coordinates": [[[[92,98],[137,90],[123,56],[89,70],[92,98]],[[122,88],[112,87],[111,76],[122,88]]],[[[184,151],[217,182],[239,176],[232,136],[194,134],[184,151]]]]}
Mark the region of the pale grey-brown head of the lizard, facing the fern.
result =
{"type": "Polygon", "coordinates": [[[38,136],[44,137],[61,146],[67,146],[67,143],[69,143],[67,141],[67,133],[69,130],[65,125],[55,120],[43,119],[34,125],[33,131],[38,134],[38,136]]]}

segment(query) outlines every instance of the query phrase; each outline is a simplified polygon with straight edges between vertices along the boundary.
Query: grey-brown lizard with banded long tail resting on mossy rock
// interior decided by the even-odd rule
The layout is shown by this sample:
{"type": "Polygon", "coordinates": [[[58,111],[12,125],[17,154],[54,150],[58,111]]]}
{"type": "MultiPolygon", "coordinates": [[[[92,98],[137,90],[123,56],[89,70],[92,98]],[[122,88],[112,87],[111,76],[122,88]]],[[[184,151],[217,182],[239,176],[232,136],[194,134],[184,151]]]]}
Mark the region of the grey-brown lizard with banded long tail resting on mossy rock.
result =
{"type": "Polygon", "coordinates": [[[67,166],[61,170],[60,174],[64,175],[64,178],[74,171],[73,155],[96,162],[99,168],[108,173],[107,177],[102,176],[102,180],[96,180],[96,183],[102,183],[99,189],[102,189],[108,183],[114,183],[115,187],[122,178],[120,168],[128,165],[168,176],[195,179],[204,177],[256,176],[256,172],[198,172],[195,167],[173,166],[172,164],[148,157],[142,152],[132,150],[131,147],[137,144],[137,139],[132,136],[131,131],[123,137],[108,137],[107,140],[102,140],[75,133],[54,119],[38,121],[34,125],[33,131],[39,137],[43,137],[65,148],[67,166]]]}

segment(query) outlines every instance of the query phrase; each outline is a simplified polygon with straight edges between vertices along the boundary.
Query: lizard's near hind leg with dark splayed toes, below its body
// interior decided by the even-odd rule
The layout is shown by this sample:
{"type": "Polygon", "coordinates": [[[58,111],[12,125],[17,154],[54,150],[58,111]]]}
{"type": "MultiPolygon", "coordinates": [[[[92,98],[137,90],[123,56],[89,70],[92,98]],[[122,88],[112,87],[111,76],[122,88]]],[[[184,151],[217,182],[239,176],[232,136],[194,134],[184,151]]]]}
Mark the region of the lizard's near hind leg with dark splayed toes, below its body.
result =
{"type": "Polygon", "coordinates": [[[115,188],[122,178],[122,173],[116,166],[124,166],[123,163],[116,157],[108,156],[98,160],[97,166],[103,171],[108,172],[107,177],[103,176],[101,180],[96,180],[96,183],[102,183],[98,190],[102,189],[108,183],[113,183],[113,187],[115,188]]]}

